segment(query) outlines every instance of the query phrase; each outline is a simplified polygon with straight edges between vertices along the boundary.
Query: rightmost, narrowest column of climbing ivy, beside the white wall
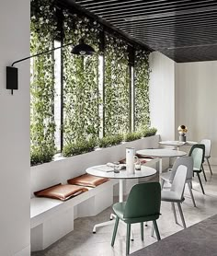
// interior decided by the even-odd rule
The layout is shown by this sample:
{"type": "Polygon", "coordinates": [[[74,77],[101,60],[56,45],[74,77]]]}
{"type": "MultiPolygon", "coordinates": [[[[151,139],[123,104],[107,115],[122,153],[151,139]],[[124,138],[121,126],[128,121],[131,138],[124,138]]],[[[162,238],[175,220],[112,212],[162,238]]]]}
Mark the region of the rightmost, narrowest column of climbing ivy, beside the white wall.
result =
{"type": "Polygon", "coordinates": [[[134,127],[135,131],[150,126],[149,111],[149,52],[135,52],[134,66],[134,127]]]}

